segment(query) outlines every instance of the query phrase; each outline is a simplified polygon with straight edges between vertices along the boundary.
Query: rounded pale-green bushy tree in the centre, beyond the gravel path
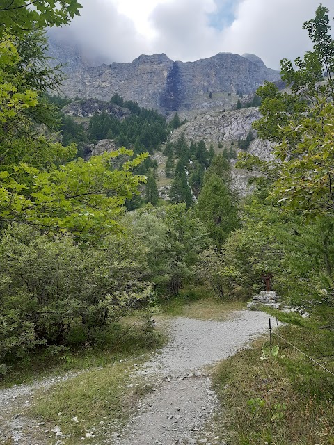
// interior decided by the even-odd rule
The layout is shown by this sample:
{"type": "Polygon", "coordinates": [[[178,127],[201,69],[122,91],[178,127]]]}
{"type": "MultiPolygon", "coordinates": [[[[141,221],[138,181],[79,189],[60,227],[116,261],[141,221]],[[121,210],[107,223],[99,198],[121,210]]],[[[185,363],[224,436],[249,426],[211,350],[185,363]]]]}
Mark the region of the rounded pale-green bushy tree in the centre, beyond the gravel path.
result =
{"type": "Polygon", "coordinates": [[[186,204],[175,204],[127,216],[134,236],[147,246],[148,277],[172,295],[196,275],[198,254],[207,248],[207,231],[186,204]]]}

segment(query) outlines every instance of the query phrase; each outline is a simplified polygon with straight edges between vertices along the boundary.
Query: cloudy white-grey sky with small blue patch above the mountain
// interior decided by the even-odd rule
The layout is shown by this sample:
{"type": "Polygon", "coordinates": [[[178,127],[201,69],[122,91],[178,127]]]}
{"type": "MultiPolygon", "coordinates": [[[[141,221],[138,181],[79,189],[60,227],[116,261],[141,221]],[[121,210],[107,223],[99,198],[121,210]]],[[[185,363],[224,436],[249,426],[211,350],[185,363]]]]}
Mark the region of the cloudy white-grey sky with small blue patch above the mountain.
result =
{"type": "MultiPolygon", "coordinates": [[[[81,0],[81,16],[56,33],[104,63],[165,53],[198,60],[218,52],[253,53],[268,67],[310,49],[303,22],[318,0],[81,0]]],[[[333,0],[321,3],[334,16],[333,0]]],[[[333,24],[333,20],[331,21],[333,24]]],[[[333,26],[334,27],[334,26],[333,26]]]]}

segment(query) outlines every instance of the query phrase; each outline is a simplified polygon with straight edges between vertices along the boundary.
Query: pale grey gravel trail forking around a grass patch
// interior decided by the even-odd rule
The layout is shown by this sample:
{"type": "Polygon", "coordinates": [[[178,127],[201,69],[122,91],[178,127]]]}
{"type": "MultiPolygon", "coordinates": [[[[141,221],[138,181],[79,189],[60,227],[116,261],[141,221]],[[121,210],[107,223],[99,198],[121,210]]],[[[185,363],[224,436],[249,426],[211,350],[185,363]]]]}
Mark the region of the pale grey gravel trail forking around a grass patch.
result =
{"type": "MultiPolygon", "coordinates": [[[[208,366],[232,355],[267,327],[268,316],[262,312],[238,311],[232,321],[172,318],[170,341],[134,376],[148,382],[148,389],[152,390],[138,405],[136,416],[125,430],[113,433],[109,439],[105,439],[104,432],[103,440],[99,440],[97,434],[94,445],[222,445],[212,432],[201,431],[212,419],[217,403],[208,366]]],[[[10,414],[8,420],[8,413],[19,413],[31,402],[35,389],[71,377],[69,373],[61,378],[0,391],[0,439],[11,431],[15,444],[49,443],[49,434],[43,434],[42,425],[29,421],[31,434],[22,435],[20,431],[27,426],[25,420],[17,414],[10,414]]],[[[66,440],[58,441],[58,445],[61,443],[65,445],[66,440]]]]}

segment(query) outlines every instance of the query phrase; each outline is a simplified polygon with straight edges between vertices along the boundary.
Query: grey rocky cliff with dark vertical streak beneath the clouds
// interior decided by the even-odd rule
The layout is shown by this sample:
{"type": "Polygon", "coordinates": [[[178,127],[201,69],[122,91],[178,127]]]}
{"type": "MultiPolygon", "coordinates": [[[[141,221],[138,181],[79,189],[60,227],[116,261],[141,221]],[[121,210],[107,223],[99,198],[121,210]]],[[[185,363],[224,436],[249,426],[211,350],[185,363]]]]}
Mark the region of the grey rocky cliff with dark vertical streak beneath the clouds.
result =
{"type": "MultiPolygon", "coordinates": [[[[50,54],[66,62],[59,44],[52,41],[50,54]]],[[[249,54],[243,57],[219,53],[196,62],[175,62],[166,54],[141,55],[131,63],[94,67],[84,63],[75,51],[69,53],[69,57],[63,94],[109,100],[117,92],[126,100],[163,113],[206,109],[202,99],[210,93],[215,106],[225,106],[228,93],[238,91],[247,95],[266,80],[280,79],[276,70],[267,68],[260,58],[249,54]]]]}

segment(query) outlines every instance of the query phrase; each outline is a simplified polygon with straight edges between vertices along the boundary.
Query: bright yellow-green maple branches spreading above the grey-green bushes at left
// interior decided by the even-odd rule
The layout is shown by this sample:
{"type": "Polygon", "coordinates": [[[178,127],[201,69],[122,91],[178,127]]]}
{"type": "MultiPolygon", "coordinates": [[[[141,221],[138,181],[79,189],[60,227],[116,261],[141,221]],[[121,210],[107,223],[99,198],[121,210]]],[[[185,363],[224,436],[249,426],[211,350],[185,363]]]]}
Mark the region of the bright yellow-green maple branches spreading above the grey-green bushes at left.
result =
{"type": "Polygon", "coordinates": [[[120,226],[116,217],[126,199],[137,193],[145,177],[133,175],[147,154],[127,161],[113,170],[111,160],[119,154],[132,155],[121,148],[110,154],[93,156],[41,171],[26,163],[0,172],[0,223],[24,223],[71,232],[81,238],[100,238],[120,226]]]}

